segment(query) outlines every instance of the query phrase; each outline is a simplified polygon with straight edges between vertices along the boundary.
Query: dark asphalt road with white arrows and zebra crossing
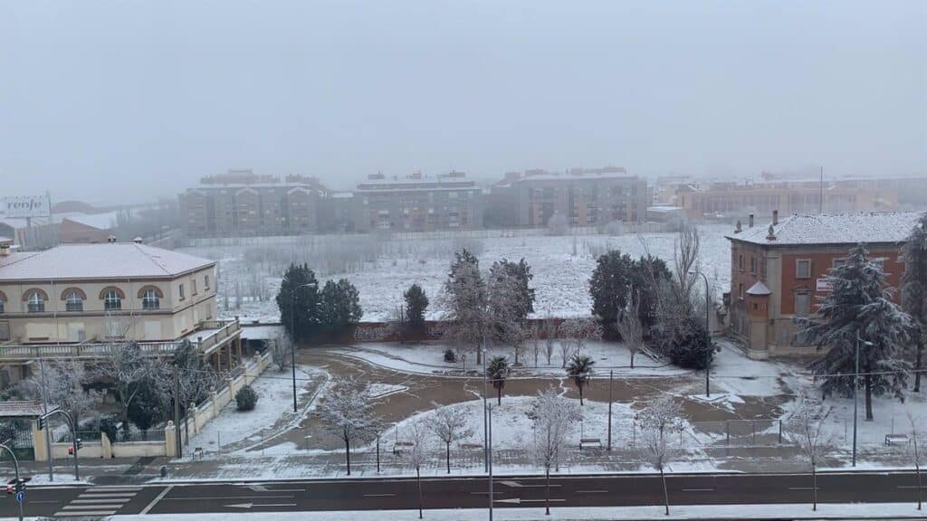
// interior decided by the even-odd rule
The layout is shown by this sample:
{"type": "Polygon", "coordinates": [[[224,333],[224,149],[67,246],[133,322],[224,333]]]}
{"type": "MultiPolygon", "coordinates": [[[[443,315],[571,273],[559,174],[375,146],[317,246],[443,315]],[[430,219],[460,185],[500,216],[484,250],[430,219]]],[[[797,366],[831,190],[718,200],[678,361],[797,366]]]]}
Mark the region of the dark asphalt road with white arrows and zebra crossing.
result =
{"type": "MultiPolygon", "coordinates": [[[[543,477],[493,482],[497,507],[544,504],[543,477]]],[[[811,501],[811,477],[800,474],[667,475],[675,504],[751,504],[811,501]]],[[[915,502],[913,473],[840,473],[818,478],[820,502],[915,502]]],[[[422,480],[426,509],[484,508],[486,477],[422,480]]],[[[927,489],[927,486],[924,486],[927,489]]],[[[30,487],[26,515],[197,514],[417,508],[413,478],[358,478],[263,483],[30,487]]],[[[552,507],[655,505],[663,502],[658,475],[551,477],[552,507]]],[[[10,496],[0,516],[18,514],[10,496]]]]}

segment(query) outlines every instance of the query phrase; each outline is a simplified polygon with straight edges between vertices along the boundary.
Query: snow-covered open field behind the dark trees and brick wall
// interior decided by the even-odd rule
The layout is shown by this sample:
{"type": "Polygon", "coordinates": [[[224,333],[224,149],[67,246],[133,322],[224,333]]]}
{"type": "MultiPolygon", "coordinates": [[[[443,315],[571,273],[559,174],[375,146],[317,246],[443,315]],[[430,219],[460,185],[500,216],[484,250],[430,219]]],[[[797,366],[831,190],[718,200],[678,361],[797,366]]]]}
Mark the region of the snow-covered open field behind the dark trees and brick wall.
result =
{"type": "MultiPolygon", "coordinates": [[[[732,228],[727,224],[712,224],[702,226],[700,231],[701,266],[719,295],[730,286],[730,246],[724,235],[732,228]]],[[[261,246],[185,248],[184,251],[219,261],[220,315],[238,315],[246,321],[278,319],[273,296],[290,261],[309,263],[323,283],[328,279],[348,278],[361,293],[364,321],[387,320],[400,304],[402,292],[413,283],[422,286],[431,299],[427,317],[438,318],[438,293],[446,278],[452,252],[463,247],[476,250],[483,268],[501,259],[524,258],[534,273],[535,316],[568,317],[590,312],[588,283],[598,255],[608,249],[618,249],[639,257],[645,252],[642,244],[645,242],[654,256],[672,264],[676,239],[675,233],[388,241],[365,235],[340,239],[336,235],[325,235],[281,237],[275,241],[265,240],[261,246]],[[345,244],[338,244],[339,240],[354,246],[347,248],[345,244]],[[332,261],[326,257],[326,252],[340,261],[332,261]],[[341,257],[349,257],[349,260],[341,257]],[[240,306],[235,305],[238,297],[240,306]]]]}

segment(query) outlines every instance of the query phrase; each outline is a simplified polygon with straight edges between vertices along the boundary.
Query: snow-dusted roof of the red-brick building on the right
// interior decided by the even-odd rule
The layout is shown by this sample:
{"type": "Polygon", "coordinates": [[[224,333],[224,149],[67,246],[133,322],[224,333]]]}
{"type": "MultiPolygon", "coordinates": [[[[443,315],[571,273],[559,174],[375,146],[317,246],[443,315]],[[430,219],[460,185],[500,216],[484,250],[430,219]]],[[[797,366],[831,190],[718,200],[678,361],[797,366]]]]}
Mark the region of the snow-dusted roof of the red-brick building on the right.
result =
{"type": "Polygon", "coordinates": [[[771,226],[775,238],[770,238],[767,225],[725,236],[767,246],[902,243],[920,217],[913,211],[792,215],[771,226]]]}

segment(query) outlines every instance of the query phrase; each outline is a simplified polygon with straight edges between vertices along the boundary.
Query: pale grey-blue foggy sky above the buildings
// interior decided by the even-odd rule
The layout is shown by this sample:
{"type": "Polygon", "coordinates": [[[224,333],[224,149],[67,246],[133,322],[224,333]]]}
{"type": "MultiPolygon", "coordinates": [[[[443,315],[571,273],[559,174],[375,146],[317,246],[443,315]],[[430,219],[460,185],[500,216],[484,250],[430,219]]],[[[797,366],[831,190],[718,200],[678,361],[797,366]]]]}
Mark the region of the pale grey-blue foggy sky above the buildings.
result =
{"type": "Polygon", "coordinates": [[[927,175],[923,1],[0,0],[0,193],[927,175]]]}

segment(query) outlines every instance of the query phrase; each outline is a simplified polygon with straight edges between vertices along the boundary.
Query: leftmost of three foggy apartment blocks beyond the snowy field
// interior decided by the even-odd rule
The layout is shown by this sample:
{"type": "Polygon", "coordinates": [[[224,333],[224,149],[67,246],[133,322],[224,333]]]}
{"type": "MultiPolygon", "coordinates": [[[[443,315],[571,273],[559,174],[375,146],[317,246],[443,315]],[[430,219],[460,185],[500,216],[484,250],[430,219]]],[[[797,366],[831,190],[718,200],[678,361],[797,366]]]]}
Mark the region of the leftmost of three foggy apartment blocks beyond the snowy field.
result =
{"type": "Polygon", "coordinates": [[[181,224],[191,237],[314,233],[324,193],[313,177],[229,171],[202,178],[180,196],[181,224]]]}

